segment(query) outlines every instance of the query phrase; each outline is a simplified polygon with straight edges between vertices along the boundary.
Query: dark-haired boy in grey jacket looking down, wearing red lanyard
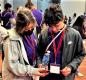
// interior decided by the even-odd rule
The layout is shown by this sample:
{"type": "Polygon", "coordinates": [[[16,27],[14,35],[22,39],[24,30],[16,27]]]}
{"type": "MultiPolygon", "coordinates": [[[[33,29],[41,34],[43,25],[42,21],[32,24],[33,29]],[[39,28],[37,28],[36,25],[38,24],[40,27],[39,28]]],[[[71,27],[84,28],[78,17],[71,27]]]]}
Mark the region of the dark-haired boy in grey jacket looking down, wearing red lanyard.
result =
{"type": "Polygon", "coordinates": [[[81,35],[65,25],[63,19],[59,4],[52,4],[45,10],[43,21],[47,28],[40,34],[37,50],[42,61],[49,50],[49,60],[45,62],[50,73],[40,80],[74,80],[85,56],[81,35]]]}

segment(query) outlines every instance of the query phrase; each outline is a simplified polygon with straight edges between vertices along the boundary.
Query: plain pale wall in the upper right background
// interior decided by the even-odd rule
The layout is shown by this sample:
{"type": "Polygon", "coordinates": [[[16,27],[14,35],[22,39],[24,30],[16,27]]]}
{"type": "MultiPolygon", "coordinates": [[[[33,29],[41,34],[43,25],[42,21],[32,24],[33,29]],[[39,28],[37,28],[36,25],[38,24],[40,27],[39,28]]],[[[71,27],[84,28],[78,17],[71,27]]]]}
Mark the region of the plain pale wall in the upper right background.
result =
{"type": "Polygon", "coordinates": [[[61,0],[64,15],[73,16],[73,13],[82,15],[85,12],[85,0],[61,0]]]}

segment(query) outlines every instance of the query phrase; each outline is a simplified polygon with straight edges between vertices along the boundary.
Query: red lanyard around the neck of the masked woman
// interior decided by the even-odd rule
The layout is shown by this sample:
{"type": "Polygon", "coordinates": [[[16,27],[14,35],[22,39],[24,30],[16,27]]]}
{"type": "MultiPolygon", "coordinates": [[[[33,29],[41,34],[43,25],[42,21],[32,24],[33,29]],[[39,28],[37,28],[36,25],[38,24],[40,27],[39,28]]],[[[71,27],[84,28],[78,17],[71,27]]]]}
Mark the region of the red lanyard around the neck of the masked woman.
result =
{"type": "Polygon", "coordinates": [[[24,37],[25,37],[28,45],[32,48],[32,51],[33,51],[33,53],[32,53],[32,60],[34,61],[35,60],[35,41],[32,40],[31,37],[30,37],[30,39],[29,39],[31,41],[30,42],[26,36],[24,36],[24,37]]]}

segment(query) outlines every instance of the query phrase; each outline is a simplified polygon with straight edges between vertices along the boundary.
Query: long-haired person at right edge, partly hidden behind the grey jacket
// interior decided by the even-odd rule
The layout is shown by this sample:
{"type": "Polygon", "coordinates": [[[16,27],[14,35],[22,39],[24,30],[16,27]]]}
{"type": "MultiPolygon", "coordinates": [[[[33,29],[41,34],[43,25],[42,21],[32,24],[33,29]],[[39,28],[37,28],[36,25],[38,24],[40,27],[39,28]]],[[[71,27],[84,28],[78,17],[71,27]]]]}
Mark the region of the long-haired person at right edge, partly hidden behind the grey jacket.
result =
{"type": "MultiPolygon", "coordinates": [[[[73,24],[73,28],[79,31],[82,39],[83,39],[83,46],[86,52],[86,17],[84,15],[80,15],[77,17],[75,23],[73,24]]],[[[78,76],[84,76],[82,73],[79,72],[79,69],[77,70],[78,76]]]]}

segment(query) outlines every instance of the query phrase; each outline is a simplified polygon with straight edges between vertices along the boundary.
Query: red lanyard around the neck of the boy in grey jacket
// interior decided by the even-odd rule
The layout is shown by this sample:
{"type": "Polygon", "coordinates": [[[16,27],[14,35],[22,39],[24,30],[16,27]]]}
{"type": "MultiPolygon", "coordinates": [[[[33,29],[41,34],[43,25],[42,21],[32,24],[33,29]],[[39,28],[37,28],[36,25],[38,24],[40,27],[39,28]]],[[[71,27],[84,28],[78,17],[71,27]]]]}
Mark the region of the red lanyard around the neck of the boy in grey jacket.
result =
{"type": "MultiPolygon", "coordinates": [[[[53,49],[54,49],[54,56],[55,56],[55,64],[56,64],[56,57],[57,57],[57,54],[59,53],[59,50],[60,50],[60,47],[61,47],[61,44],[62,44],[63,37],[64,37],[64,31],[61,33],[61,36],[60,36],[60,39],[59,39],[57,48],[56,48],[55,41],[53,42],[53,49]]],[[[52,39],[53,38],[54,38],[54,35],[52,34],[52,39]]]]}

